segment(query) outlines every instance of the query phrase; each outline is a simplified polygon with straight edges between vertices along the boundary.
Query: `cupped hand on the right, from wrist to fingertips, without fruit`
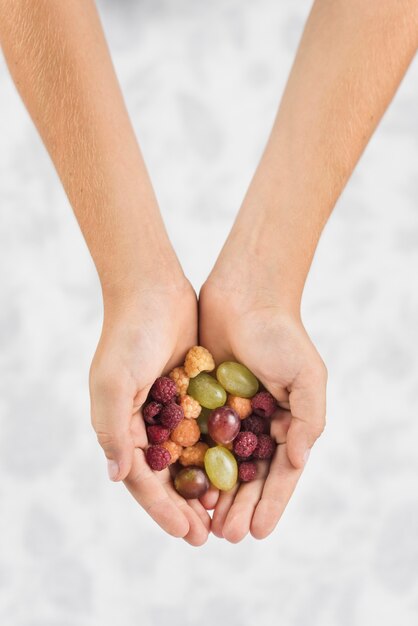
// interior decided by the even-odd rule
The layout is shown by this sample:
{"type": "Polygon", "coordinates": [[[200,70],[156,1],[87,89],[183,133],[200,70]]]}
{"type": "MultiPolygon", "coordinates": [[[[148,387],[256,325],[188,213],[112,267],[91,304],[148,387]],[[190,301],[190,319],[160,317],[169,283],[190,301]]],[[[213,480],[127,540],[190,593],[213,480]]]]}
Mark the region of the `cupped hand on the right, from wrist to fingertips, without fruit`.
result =
{"type": "Polygon", "coordinates": [[[249,531],[262,539],[279,521],[324,429],[326,369],[298,316],[270,301],[209,280],[199,304],[202,345],[217,363],[245,364],[279,402],[271,423],[279,445],[270,468],[259,462],[256,480],[221,493],[211,525],[233,543],[249,531]]]}

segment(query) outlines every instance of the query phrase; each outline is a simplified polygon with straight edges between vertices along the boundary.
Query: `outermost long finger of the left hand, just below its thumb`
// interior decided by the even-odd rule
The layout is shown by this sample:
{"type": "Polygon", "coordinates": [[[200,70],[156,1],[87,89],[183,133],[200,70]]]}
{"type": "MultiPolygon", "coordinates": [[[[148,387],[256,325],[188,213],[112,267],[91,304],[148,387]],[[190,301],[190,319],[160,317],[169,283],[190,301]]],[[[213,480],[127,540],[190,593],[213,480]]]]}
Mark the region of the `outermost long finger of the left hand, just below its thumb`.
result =
{"type": "MultiPolygon", "coordinates": [[[[165,478],[171,480],[169,471],[164,470],[164,473],[165,478]]],[[[149,467],[140,448],[134,451],[132,469],[124,482],[135,500],[163,530],[173,537],[187,535],[190,530],[188,518],[170,498],[161,477],[149,467]]]]}

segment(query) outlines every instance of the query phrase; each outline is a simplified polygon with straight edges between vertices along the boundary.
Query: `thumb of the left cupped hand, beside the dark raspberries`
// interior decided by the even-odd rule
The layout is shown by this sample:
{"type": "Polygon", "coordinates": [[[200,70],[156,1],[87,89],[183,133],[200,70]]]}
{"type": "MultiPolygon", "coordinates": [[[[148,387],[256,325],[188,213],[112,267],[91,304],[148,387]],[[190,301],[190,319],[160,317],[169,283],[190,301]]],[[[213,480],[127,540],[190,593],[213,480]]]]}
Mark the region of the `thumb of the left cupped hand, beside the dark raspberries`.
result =
{"type": "Polygon", "coordinates": [[[91,386],[91,420],[107,458],[110,480],[124,480],[132,467],[131,433],[133,400],[114,382],[91,386]]]}

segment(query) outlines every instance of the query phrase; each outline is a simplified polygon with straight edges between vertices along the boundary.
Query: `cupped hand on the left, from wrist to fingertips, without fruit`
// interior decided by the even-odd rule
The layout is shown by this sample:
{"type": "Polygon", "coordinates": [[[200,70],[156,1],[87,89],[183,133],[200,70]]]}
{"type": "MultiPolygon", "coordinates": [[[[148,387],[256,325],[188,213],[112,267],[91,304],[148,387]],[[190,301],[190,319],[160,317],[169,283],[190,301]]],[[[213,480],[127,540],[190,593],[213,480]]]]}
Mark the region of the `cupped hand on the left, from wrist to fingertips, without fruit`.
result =
{"type": "Polygon", "coordinates": [[[170,535],[203,544],[210,518],[198,500],[175,491],[170,471],[153,472],[145,460],[141,414],[162,372],[181,363],[197,343],[196,296],[189,283],[105,301],[103,331],[90,372],[92,423],[112,480],[124,480],[138,503],[170,535]]]}

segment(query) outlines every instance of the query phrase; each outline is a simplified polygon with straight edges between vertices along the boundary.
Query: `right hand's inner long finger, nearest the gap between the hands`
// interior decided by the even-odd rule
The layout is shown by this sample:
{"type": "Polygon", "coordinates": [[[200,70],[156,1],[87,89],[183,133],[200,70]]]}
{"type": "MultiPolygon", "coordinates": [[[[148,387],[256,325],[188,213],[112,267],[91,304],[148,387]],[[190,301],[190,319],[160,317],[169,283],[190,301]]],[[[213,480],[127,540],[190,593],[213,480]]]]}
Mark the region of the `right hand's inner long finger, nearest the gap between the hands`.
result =
{"type": "Polygon", "coordinates": [[[268,463],[259,462],[257,478],[248,483],[241,483],[222,528],[222,534],[227,541],[238,543],[248,534],[267,472],[268,463]]]}

